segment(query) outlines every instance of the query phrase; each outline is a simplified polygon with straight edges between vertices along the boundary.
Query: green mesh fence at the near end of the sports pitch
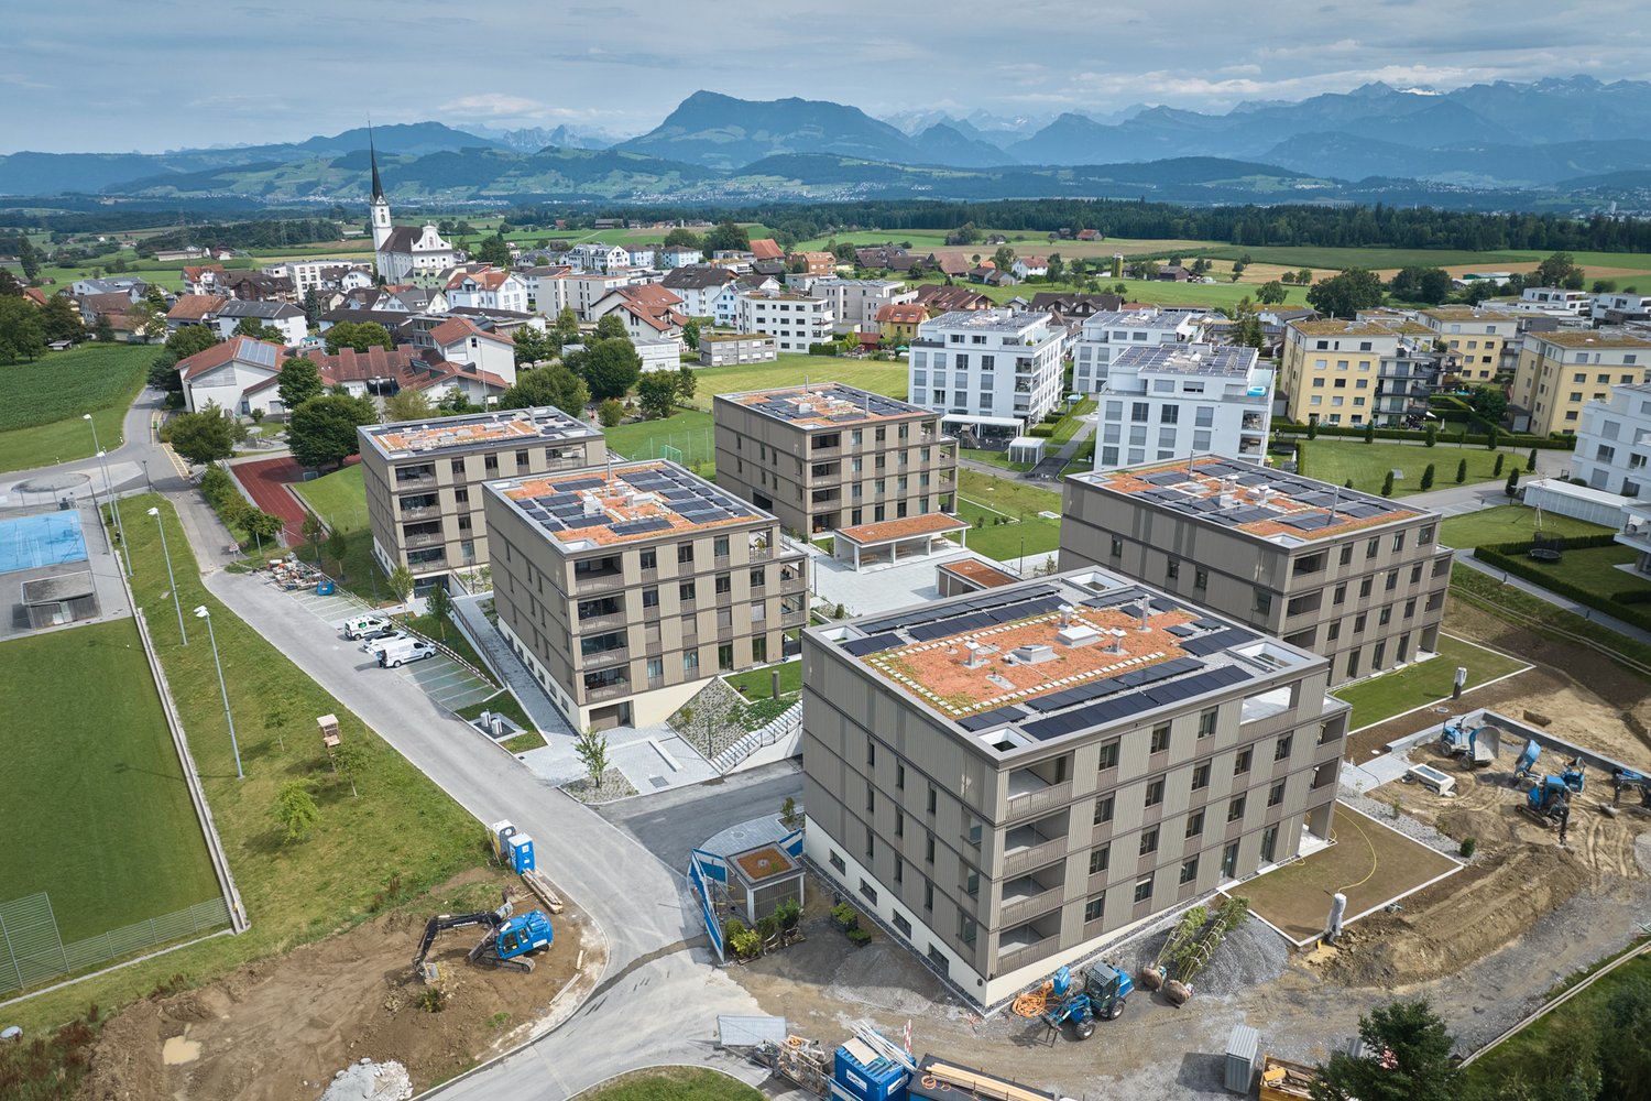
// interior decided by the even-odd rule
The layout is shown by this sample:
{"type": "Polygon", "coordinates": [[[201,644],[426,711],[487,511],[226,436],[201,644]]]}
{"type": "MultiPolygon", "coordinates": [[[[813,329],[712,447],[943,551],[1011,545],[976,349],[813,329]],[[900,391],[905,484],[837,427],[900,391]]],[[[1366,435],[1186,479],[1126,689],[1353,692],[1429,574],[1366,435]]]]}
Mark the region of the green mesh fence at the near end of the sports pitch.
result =
{"type": "Polygon", "coordinates": [[[211,898],[170,914],[64,944],[46,893],[26,895],[0,903],[0,994],[40,985],[58,976],[91,971],[145,947],[226,924],[229,924],[229,908],[223,898],[211,898]]]}

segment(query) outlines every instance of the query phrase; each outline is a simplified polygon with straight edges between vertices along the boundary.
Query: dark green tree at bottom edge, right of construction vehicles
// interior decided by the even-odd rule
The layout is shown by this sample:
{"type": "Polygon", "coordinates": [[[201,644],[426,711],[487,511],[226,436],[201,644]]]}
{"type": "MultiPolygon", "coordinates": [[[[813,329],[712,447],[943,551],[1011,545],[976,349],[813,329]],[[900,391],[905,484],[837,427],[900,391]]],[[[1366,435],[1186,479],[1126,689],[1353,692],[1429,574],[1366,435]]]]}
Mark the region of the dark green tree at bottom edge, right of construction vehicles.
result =
{"type": "Polygon", "coordinates": [[[1455,1101],[1461,1071],[1451,1063],[1455,1040],[1428,1002],[1392,1002],[1359,1018],[1359,1037],[1375,1058],[1344,1051],[1319,1068],[1314,1101],[1455,1101]]]}

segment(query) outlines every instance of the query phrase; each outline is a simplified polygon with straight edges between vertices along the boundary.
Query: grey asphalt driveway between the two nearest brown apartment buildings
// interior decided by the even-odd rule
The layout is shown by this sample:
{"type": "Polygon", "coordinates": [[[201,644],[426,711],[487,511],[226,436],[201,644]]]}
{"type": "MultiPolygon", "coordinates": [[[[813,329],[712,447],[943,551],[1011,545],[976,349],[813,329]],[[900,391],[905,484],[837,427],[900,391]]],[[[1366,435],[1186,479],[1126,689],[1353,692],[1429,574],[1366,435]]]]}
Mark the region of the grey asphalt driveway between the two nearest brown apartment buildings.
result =
{"type": "Polygon", "coordinates": [[[611,802],[598,814],[675,870],[688,867],[688,848],[707,837],[764,814],[778,815],[788,796],[801,806],[802,763],[796,759],[647,799],[611,802]]]}

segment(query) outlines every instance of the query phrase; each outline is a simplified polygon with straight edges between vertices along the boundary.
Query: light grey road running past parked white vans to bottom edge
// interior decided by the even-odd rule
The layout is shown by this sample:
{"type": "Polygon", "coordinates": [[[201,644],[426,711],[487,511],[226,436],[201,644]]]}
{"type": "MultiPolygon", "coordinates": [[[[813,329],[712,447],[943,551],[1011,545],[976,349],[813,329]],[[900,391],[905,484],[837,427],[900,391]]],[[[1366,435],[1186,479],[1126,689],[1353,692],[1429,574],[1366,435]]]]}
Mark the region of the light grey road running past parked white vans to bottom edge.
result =
{"type": "Polygon", "coordinates": [[[446,716],[424,693],[360,667],[348,644],[287,594],[249,574],[213,573],[206,586],[477,820],[510,819],[532,834],[542,868],[608,936],[608,972],[586,1005],[525,1051],[439,1089],[444,1099],[565,1098],[660,1063],[726,1063],[756,1080],[755,1068],[712,1050],[718,1012],[758,1009],[695,946],[703,929],[679,872],[446,716]]]}

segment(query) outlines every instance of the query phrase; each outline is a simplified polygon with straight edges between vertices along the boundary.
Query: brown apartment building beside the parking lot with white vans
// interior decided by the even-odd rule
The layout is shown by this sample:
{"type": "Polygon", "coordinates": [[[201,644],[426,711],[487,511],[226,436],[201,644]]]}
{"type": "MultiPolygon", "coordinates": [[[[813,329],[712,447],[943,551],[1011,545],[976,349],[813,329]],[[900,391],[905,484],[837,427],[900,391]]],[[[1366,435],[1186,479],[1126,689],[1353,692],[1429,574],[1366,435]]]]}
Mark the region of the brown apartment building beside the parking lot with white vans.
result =
{"type": "Polygon", "coordinates": [[[779,520],[674,462],[487,482],[494,606],[575,730],[664,721],[807,624],[779,520]]]}

